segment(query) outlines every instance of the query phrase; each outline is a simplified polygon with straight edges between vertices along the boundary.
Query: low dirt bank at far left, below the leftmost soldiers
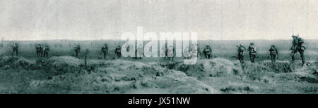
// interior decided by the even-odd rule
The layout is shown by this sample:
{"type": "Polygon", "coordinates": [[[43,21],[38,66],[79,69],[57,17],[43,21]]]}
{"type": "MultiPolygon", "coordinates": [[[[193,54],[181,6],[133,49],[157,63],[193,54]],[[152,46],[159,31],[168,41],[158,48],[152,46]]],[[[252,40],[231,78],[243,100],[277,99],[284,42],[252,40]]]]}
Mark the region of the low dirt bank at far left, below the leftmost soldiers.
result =
{"type": "Polygon", "coordinates": [[[80,70],[81,60],[73,57],[37,58],[28,60],[23,57],[3,56],[0,57],[1,69],[23,68],[27,70],[45,69],[46,72],[62,74],[80,70]]]}

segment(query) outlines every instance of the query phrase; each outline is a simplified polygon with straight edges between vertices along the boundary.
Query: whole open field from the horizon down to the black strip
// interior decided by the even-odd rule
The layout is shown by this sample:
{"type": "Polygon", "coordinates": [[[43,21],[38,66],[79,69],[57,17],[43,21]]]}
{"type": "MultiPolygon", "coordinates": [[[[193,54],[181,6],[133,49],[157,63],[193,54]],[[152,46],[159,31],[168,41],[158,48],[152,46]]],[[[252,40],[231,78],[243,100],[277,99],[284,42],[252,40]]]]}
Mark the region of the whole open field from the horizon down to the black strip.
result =
{"type": "MultiPolygon", "coordinates": [[[[259,48],[256,63],[232,58],[239,43],[250,41],[199,41],[208,43],[214,57],[183,65],[162,58],[116,59],[115,46],[121,41],[18,41],[21,57],[11,57],[13,41],[4,41],[0,57],[0,93],[318,93],[318,40],[307,40],[308,66],[300,66],[299,54],[290,60],[290,40],[254,41],[259,48]],[[48,43],[49,58],[36,58],[34,43],[48,43]],[[73,45],[89,48],[89,68],[83,57],[73,58],[73,45]],[[108,43],[107,60],[100,48],[108,43]],[[271,44],[280,51],[278,61],[268,58],[271,44]],[[114,59],[115,58],[115,59],[114,59]]],[[[83,52],[83,51],[82,51],[83,52]]]]}

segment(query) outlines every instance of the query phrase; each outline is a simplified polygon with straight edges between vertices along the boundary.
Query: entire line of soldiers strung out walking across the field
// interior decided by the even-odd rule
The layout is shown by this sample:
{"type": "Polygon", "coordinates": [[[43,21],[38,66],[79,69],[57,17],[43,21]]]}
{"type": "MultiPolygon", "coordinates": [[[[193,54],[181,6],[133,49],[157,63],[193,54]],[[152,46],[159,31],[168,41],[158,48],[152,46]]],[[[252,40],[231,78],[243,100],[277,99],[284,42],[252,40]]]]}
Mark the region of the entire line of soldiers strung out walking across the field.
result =
{"type": "MultiPolygon", "coordinates": [[[[302,65],[305,65],[305,46],[304,46],[304,40],[302,38],[298,36],[293,35],[293,45],[290,48],[291,53],[290,56],[292,57],[291,62],[295,61],[295,53],[300,53],[300,57],[302,58],[302,65]]],[[[138,47],[138,48],[142,48],[142,47],[138,47]]],[[[16,56],[18,56],[18,43],[15,43],[12,46],[12,56],[14,53],[16,53],[16,56]]],[[[40,43],[38,43],[35,46],[36,49],[36,54],[38,57],[47,57],[49,55],[49,46],[47,44],[42,45],[40,43]]],[[[129,51],[129,47],[126,48],[127,51],[129,51]]],[[[167,60],[172,60],[173,61],[173,55],[175,53],[175,48],[173,46],[167,46],[167,43],[165,43],[165,47],[162,49],[165,51],[165,59],[167,60]]],[[[185,48],[184,52],[192,52],[192,48],[185,48]]],[[[199,47],[197,47],[197,50],[199,50],[199,47]]],[[[254,43],[249,43],[249,47],[246,49],[245,46],[243,46],[242,44],[240,44],[240,46],[237,46],[237,59],[240,60],[241,63],[244,63],[244,51],[247,50],[249,51],[249,59],[251,60],[251,62],[255,61],[255,58],[257,58],[257,48],[255,48],[254,43]]],[[[74,46],[74,51],[75,51],[75,56],[76,58],[78,58],[78,55],[81,51],[81,46],[79,44],[77,44],[76,46],[74,46]]],[[[106,58],[106,55],[108,53],[108,46],[107,44],[104,44],[104,46],[102,46],[101,51],[103,53],[103,58],[106,58]]],[[[117,58],[120,58],[122,56],[121,53],[121,47],[117,46],[115,48],[114,53],[117,55],[117,58]]],[[[137,53],[142,53],[142,52],[137,52],[137,53]]],[[[206,59],[210,59],[212,57],[212,48],[210,47],[209,44],[206,45],[206,47],[204,48],[204,50],[202,51],[202,53],[204,54],[204,58],[206,59]]],[[[202,56],[202,53],[200,51],[198,51],[198,55],[202,56]]],[[[191,58],[191,53],[186,53],[188,56],[185,57],[185,59],[189,59],[191,58]]],[[[271,62],[276,62],[276,58],[278,58],[278,50],[276,48],[275,45],[271,45],[271,48],[269,48],[269,55],[271,57],[271,62]]],[[[141,57],[140,57],[141,58],[141,57]]]]}

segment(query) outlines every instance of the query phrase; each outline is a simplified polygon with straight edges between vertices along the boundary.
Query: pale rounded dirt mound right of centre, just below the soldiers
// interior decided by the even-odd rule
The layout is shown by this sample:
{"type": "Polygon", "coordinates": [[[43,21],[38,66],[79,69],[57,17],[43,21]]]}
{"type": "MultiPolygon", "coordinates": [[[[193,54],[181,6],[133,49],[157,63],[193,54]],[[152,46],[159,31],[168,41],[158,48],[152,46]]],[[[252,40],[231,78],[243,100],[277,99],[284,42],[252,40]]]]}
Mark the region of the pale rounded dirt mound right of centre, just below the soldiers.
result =
{"type": "Polygon", "coordinates": [[[196,65],[184,65],[183,62],[179,62],[174,65],[174,69],[194,77],[239,75],[242,73],[238,65],[223,58],[198,60],[196,65]]]}

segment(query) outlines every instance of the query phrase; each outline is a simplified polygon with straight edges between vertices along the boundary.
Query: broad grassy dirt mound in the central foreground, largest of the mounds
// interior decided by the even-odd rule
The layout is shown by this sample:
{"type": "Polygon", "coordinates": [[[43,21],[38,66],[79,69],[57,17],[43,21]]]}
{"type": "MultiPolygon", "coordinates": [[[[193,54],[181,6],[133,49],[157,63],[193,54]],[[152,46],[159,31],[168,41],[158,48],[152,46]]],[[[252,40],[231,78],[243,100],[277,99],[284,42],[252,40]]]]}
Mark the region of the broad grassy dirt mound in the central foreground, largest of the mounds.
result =
{"type": "Polygon", "coordinates": [[[40,93],[218,93],[183,72],[126,60],[92,60],[93,72],[66,73],[50,80],[33,81],[30,90],[40,93]],[[51,91],[54,87],[54,91],[51,91]]]}

